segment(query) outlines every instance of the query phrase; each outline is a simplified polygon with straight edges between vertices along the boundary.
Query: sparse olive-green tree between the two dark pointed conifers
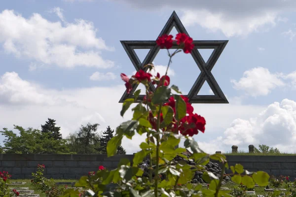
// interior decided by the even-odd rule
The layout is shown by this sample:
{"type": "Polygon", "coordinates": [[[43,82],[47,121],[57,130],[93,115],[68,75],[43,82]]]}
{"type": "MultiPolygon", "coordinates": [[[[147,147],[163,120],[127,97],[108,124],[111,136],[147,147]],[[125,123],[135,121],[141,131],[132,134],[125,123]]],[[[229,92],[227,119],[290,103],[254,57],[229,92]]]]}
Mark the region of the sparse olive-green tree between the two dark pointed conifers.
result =
{"type": "Polygon", "coordinates": [[[96,133],[99,124],[81,125],[78,132],[67,136],[71,152],[77,154],[100,154],[100,135],[96,133]]]}

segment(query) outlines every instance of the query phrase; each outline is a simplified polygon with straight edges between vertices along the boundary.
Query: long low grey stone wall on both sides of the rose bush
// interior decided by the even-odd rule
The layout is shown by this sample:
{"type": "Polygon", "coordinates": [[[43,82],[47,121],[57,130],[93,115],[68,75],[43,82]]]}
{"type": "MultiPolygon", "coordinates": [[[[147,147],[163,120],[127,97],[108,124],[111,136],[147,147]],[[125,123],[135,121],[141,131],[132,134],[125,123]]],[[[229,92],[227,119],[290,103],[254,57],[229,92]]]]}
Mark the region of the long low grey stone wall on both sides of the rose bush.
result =
{"type": "MultiPolygon", "coordinates": [[[[108,169],[117,167],[119,160],[133,155],[53,155],[53,154],[0,154],[0,170],[8,171],[12,179],[30,179],[37,164],[44,164],[44,175],[55,179],[78,179],[99,165],[108,169]]],[[[266,171],[270,175],[296,178],[296,156],[226,156],[229,165],[242,164],[249,171],[266,171]]],[[[214,161],[213,161],[214,162],[214,161]]]]}

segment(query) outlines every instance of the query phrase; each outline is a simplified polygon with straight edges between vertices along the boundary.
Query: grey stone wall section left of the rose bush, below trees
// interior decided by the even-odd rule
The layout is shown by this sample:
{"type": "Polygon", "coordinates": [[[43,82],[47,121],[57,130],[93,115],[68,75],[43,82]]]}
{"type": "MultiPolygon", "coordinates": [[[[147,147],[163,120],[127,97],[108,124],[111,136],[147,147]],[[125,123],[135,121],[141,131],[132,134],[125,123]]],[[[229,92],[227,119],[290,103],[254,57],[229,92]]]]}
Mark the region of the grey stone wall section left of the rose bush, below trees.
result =
{"type": "Polygon", "coordinates": [[[58,155],[58,154],[0,154],[0,170],[8,171],[11,179],[31,179],[38,164],[44,164],[44,176],[54,179],[79,179],[100,165],[108,169],[117,167],[120,159],[132,161],[133,155],[58,155]]]}

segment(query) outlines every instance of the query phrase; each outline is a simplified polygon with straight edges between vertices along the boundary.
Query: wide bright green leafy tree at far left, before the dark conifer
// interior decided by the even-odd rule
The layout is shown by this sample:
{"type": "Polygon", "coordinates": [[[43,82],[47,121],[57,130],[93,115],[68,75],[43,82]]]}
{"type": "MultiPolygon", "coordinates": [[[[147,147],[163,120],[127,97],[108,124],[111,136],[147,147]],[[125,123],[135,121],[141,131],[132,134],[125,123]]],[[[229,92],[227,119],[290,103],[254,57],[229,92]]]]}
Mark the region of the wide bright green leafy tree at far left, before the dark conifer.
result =
{"type": "Polygon", "coordinates": [[[28,128],[27,130],[15,126],[14,129],[19,131],[17,135],[7,128],[0,131],[5,136],[3,150],[5,153],[16,154],[60,154],[68,153],[69,149],[66,140],[54,140],[49,137],[50,133],[42,133],[37,129],[28,128]]]}

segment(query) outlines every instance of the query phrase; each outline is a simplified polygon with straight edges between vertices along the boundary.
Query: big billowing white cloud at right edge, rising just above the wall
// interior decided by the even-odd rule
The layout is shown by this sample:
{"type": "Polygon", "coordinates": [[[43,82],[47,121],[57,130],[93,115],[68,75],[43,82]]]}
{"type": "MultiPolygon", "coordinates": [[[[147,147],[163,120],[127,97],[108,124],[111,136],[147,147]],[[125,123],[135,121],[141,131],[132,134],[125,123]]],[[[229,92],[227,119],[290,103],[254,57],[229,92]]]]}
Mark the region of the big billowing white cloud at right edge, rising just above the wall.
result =
{"type": "Polygon", "coordinates": [[[296,152],[295,142],[296,102],[289,99],[270,104],[249,120],[235,119],[220,140],[224,147],[238,145],[246,150],[250,144],[266,144],[287,153],[296,152]]]}

